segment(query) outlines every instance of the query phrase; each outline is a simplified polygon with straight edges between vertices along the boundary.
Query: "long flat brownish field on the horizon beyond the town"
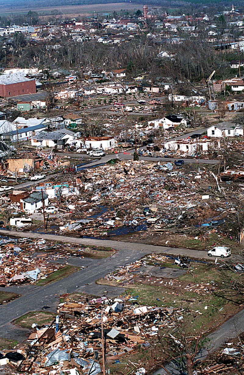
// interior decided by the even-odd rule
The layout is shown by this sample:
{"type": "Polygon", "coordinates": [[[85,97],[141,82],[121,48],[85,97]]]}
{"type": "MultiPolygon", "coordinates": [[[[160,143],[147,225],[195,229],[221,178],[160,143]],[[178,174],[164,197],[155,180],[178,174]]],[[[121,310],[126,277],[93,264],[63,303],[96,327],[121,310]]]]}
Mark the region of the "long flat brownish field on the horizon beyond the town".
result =
{"type": "MultiPolygon", "coordinates": [[[[149,6],[150,8],[150,6],[149,6]]],[[[28,13],[29,10],[35,10],[40,16],[49,16],[51,11],[57,9],[63,13],[63,15],[69,15],[70,17],[77,17],[78,15],[90,15],[95,13],[113,13],[115,11],[120,11],[121,9],[125,10],[134,10],[134,9],[143,9],[142,4],[135,3],[108,3],[108,4],[90,4],[90,5],[64,5],[64,6],[50,6],[50,7],[40,7],[33,9],[28,6],[7,6],[0,7],[0,14],[6,15],[9,13],[28,13]]],[[[59,15],[57,16],[59,17],[59,15]]]]}

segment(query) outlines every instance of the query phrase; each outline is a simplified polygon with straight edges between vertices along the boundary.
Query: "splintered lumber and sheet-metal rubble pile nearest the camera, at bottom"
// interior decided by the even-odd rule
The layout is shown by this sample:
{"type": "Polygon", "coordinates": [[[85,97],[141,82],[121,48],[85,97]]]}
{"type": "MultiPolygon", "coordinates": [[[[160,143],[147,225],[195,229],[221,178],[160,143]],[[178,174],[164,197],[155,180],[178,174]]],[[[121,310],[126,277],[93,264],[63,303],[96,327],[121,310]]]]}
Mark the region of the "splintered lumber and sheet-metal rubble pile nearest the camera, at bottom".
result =
{"type": "MultiPolygon", "coordinates": [[[[98,374],[102,371],[102,331],[107,365],[127,354],[150,347],[165,327],[174,327],[179,312],[173,308],[139,306],[130,296],[101,297],[88,302],[65,302],[51,324],[35,327],[19,350],[24,359],[19,372],[29,374],[98,374]]],[[[35,324],[33,325],[35,326],[35,324]]],[[[2,352],[3,357],[5,352],[2,352]]],[[[14,362],[9,363],[14,369],[14,362]]],[[[8,365],[7,365],[8,366],[8,365]]],[[[15,364],[16,366],[16,364],[15,364]]]]}

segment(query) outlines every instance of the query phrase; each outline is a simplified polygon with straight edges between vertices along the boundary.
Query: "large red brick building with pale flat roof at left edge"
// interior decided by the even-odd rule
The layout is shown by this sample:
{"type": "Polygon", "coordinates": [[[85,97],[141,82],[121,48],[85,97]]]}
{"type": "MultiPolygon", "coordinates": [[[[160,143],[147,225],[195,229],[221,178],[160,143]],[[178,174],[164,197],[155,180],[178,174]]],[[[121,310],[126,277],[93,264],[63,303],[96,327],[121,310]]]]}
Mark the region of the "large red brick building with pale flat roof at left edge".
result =
{"type": "Polygon", "coordinates": [[[11,96],[35,94],[36,81],[20,74],[0,75],[0,96],[10,98],[11,96]]]}

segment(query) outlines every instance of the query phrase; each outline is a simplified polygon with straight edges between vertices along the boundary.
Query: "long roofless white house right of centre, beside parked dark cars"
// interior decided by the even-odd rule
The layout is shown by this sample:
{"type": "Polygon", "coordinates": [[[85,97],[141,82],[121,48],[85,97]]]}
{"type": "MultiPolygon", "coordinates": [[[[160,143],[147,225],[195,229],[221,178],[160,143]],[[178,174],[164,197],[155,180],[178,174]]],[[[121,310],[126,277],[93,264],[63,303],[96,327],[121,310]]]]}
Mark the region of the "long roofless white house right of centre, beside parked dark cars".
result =
{"type": "Polygon", "coordinates": [[[209,139],[179,139],[178,141],[169,141],[164,143],[164,148],[171,151],[182,151],[194,153],[196,151],[209,151],[209,149],[220,148],[220,141],[217,142],[209,139]]]}

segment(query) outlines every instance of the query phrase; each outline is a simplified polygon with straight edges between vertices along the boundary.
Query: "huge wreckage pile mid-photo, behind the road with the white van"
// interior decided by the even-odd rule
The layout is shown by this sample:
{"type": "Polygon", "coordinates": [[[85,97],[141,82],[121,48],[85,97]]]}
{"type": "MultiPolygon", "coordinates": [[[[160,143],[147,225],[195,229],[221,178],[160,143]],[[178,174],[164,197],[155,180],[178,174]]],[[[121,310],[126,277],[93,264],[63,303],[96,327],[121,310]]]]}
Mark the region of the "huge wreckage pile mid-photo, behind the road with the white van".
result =
{"type": "MultiPolygon", "coordinates": [[[[171,163],[167,164],[172,168],[171,163]]],[[[226,204],[221,208],[220,198],[215,199],[216,186],[209,181],[211,175],[206,169],[184,169],[174,175],[167,171],[160,163],[143,160],[118,160],[113,165],[87,170],[80,176],[82,198],[71,198],[73,220],[63,218],[60,231],[79,231],[95,237],[144,231],[148,236],[149,228],[152,235],[183,225],[210,226],[211,220],[217,220],[218,225],[218,220],[226,215],[226,204]],[[213,199],[209,199],[206,190],[213,194],[213,199]]],[[[228,203],[228,209],[232,208],[228,203]]]]}

